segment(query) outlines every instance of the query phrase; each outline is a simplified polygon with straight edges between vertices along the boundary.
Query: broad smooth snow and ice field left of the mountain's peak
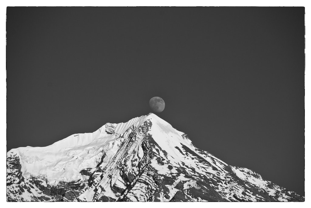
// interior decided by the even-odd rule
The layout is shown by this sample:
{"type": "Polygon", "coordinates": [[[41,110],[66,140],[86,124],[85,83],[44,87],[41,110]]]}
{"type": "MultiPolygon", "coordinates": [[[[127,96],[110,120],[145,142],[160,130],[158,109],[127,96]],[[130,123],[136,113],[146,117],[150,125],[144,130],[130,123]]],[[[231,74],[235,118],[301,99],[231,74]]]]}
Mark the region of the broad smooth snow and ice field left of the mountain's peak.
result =
{"type": "Polygon", "coordinates": [[[73,134],[46,147],[19,147],[7,155],[20,156],[21,171],[26,178],[47,178],[50,185],[59,181],[83,180],[80,171],[96,167],[104,152],[107,155],[105,160],[109,161],[118,150],[113,148],[116,147],[113,143],[121,143],[121,136],[128,128],[141,125],[145,118],[141,116],[126,123],[112,124],[115,127],[113,134],[105,131],[105,124],[93,133],[73,134]]]}

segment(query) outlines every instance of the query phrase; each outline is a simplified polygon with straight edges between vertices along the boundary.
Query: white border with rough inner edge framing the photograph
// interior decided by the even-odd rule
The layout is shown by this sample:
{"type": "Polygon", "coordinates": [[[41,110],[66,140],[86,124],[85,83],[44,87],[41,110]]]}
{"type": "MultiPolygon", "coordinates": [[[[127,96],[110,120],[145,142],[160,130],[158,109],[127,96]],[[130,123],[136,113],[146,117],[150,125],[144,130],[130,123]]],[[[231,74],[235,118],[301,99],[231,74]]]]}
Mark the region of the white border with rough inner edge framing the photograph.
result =
{"type": "MultiPolygon", "coordinates": [[[[311,2],[309,0],[309,2],[311,2]]],[[[6,142],[6,7],[7,6],[175,6],[175,7],[189,7],[189,6],[256,6],[256,7],[305,7],[305,23],[306,26],[306,63],[305,63],[305,202],[262,202],[262,203],[253,203],[253,202],[223,202],[215,204],[216,202],[175,202],[174,204],[170,203],[156,203],[156,202],[149,202],[148,204],[142,202],[105,202],[103,204],[96,204],[96,202],[85,202],[85,203],[78,203],[78,202],[70,202],[62,203],[62,202],[6,202],[6,145],[2,143],[0,145],[0,152],[2,152],[3,156],[0,157],[0,203],[2,207],[54,207],[54,206],[75,206],[75,207],[85,207],[85,206],[113,206],[113,207],[123,207],[123,206],[134,206],[134,207],[157,207],[157,206],[178,206],[178,207],[188,207],[188,206],[198,206],[198,207],[206,207],[206,206],[230,206],[230,207],[262,207],[262,206],[282,206],[282,207],[309,207],[310,199],[310,153],[309,153],[309,146],[310,146],[310,118],[311,118],[311,111],[310,111],[310,87],[311,87],[311,80],[310,80],[310,62],[309,54],[311,53],[311,5],[307,0],[295,0],[295,1],[277,1],[277,0],[262,0],[262,1],[243,1],[243,0],[225,0],[225,1],[202,1],[202,0],[179,0],[179,1],[172,1],[172,0],[158,0],[158,1],[139,1],[139,0],[128,0],[128,1],[99,1],[99,0],[88,0],[88,1],[66,1],[66,0],[54,0],[54,1],[38,1],[38,0],[2,0],[1,4],[1,12],[0,12],[0,51],[1,51],[1,70],[0,70],[0,132],[2,133],[2,141],[6,142]],[[309,35],[309,36],[308,36],[309,35]],[[309,37],[309,38],[308,38],[309,37]],[[308,52],[309,49],[309,52],[308,52]],[[309,73],[309,74],[308,74],[309,73]],[[309,75],[309,76],[308,76],[309,75]],[[22,204],[20,204],[22,203],[22,204]],[[86,204],[92,203],[92,204],[86,204]],[[113,204],[112,204],[113,203],[113,204]],[[125,204],[126,203],[126,204],[125,204]],[[252,204],[249,204],[252,203],[252,204]]],[[[290,168],[290,167],[289,167],[290,168]]],[[[99,203],[99,202],[97,202],[99,203]]]]}

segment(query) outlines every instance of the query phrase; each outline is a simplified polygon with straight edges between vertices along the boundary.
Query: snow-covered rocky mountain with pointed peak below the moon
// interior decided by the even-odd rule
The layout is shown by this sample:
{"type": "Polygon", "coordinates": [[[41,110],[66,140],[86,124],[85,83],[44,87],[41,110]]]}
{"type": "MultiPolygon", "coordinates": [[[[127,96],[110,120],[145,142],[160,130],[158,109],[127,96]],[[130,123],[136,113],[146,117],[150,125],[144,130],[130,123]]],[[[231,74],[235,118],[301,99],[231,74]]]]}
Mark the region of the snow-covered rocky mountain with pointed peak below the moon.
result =
{"type": "Polygon", "coordinates": [[[7,152],[7,201],[304,201],[153,113],[7,152]]]}

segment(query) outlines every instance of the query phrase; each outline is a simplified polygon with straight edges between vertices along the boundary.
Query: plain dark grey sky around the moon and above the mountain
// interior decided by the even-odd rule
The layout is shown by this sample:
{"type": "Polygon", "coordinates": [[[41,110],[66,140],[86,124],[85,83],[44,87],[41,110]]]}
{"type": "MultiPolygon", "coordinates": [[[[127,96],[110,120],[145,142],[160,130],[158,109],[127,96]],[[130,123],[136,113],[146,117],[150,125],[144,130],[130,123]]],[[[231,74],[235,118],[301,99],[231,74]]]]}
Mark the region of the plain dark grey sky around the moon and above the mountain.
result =
{"type": "Polygon", "coordinates": [[[304,195],[304,7],[8,7],[7,151],[150,113],[304,195]]]}

